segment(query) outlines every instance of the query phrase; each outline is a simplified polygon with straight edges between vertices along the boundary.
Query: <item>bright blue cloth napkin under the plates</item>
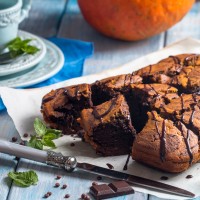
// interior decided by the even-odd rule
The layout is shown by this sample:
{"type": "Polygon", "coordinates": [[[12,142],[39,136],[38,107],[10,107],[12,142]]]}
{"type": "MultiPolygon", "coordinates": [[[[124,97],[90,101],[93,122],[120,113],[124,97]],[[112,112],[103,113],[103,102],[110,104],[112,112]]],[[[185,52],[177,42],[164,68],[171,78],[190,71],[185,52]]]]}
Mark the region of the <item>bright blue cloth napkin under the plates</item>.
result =
{"type": "MultiPolygon", "coordinates": [[[[93,44],[90,42],[64,38],[49,38],[48,40],[56,44],[62,50],[65,57],[64,65],[53,77],[41,83],[29,86],[28,88],[43,87],[81,76],[85,59],[93,55],[93,44]]],[[[3,109],[5,109],[5,106],[0,98],[0,110],[3,109]]]]}

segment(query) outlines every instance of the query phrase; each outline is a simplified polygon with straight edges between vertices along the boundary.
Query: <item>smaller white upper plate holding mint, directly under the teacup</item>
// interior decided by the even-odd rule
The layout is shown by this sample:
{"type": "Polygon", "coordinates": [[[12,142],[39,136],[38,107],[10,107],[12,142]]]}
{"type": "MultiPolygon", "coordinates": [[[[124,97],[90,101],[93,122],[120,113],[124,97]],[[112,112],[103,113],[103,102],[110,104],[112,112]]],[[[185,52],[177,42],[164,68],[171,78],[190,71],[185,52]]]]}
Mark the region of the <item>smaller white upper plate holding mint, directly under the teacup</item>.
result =
{"type": "Polygon", "coordinates": [[[24,55],[14,60],[12,63],[0,65],[0,76],[14,74],[29,69],[38,64],[46,54],[46,46],[42,39],[25,31],[18,31],[18,36],[22,39],[32,39],[31,45],[40,50],[33,55],[24,55]]]}

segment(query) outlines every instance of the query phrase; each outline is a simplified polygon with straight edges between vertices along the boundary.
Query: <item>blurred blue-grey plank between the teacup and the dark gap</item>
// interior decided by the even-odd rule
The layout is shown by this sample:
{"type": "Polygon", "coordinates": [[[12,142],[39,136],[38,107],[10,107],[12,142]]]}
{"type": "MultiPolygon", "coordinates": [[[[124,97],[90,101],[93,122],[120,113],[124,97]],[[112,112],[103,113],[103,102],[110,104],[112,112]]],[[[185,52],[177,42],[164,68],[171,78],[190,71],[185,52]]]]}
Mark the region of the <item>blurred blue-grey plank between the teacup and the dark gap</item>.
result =
{"type": "Polygon", "coordinates": [[[33,0],[29,17],[20,29],[42,37],[56,36],[67,0],[33,0]]]}

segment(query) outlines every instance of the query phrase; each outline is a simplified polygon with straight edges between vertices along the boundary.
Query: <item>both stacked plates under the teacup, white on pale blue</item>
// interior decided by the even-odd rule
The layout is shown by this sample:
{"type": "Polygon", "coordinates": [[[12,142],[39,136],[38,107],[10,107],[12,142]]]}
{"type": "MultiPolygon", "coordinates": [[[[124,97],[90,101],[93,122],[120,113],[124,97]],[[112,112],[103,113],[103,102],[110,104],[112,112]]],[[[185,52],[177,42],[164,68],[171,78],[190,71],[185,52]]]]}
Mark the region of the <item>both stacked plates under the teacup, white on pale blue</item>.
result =
{"type": "Polygon", "coordinates": [[[22,39],[32,39],[31,45],[40,49],[34,55],[23,55],[9,64],[0,65],[0,86],[27,87],[55,75],[64,64],[62,51],[53,43],[25,31],[22,39]]]}

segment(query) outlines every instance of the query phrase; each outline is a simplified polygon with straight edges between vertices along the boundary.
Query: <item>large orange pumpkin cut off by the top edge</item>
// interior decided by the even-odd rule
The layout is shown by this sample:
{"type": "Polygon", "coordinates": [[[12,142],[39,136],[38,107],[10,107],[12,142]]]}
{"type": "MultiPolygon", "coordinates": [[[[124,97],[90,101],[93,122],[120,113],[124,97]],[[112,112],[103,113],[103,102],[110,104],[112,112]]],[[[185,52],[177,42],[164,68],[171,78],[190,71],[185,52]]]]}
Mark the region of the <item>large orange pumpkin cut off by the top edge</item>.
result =
{"type": "Polygon", "coordinates": [[[191,9],[195,0],[78,0],[86,21],[101,33],[122,40],[159,34],[191,9]]]}

